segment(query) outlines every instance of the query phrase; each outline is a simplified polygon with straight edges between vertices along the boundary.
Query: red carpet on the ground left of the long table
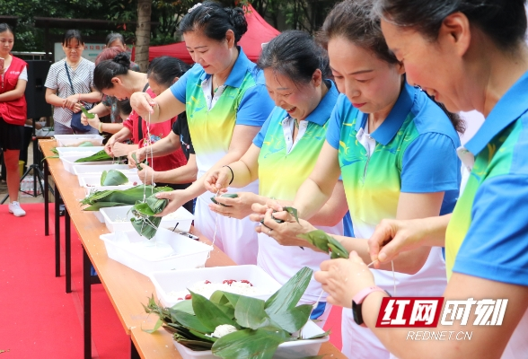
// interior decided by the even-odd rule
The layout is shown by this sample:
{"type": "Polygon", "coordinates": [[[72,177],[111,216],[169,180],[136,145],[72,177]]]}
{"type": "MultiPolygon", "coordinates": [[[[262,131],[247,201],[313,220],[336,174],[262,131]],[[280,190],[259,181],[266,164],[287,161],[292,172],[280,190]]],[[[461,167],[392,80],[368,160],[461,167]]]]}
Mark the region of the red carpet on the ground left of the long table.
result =
{"type": "MultiPolygon", "coordinates": [[[[66,294],[64,258],[62,276],[55,277],[53,215],[44,236],[44,205],[22,206],[27,215],[20,218],[0,206],[0,357],[82,358],[81,242],[73,229],[73,293],[66,294]]],[[[130,339],[102,285],[92,285],[92,353],[130,357],[130,339]]]]}

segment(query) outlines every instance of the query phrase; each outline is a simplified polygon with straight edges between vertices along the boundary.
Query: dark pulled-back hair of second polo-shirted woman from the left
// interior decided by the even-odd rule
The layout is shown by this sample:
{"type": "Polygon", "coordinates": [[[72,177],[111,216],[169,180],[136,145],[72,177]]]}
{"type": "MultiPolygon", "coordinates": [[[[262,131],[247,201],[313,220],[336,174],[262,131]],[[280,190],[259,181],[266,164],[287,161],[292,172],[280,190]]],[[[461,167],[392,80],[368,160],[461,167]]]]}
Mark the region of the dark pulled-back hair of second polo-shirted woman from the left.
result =
{"type": "Polygon", "coordinates": [[[313,72],[321,70],[322,78],[330,75],[328,54],[304,31],[284,31],[262,48],[257,64],[288,77],[295,85],[312,81],[313,72]]]}

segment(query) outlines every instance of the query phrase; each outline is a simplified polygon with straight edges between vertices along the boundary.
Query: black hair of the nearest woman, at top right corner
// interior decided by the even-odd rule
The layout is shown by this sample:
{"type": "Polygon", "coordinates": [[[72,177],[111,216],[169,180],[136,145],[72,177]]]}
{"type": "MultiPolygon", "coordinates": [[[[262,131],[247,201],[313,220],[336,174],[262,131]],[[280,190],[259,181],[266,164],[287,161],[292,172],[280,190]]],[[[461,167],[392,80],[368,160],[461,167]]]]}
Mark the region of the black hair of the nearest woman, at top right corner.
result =
{"type": "Polygon", "coordinates": [[[374,15],[437,39],[444,19],[463,13],[497,48],[515,48],[526,33],[525,0],[374,0],[374,15]]]}

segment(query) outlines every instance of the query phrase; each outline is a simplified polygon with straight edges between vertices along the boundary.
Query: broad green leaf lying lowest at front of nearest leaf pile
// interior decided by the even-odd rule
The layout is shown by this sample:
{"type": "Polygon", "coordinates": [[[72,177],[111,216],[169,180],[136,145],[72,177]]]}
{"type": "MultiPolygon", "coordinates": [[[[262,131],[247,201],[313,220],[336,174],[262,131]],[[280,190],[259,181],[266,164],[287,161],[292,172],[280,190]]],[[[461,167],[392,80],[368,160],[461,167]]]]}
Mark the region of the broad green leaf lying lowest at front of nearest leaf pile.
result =
{"type": "Polygon", "coordinates": [[[290,340],[289,333],[275,327],[244,329],[216,340],[213,354],[229,359],[270,359],[277,346],[290,340]]]}

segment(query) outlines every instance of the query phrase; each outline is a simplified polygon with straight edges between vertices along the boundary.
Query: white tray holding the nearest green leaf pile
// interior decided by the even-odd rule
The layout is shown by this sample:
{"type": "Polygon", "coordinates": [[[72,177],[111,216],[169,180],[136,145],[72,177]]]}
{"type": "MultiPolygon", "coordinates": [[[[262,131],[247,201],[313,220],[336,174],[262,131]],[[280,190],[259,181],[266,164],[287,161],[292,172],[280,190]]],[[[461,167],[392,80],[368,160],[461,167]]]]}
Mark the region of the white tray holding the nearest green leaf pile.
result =
{"type": "MultiPolygon", "coordinates": [[[[318,334],[324,333],[317,324],[312,320],[308,320],[303,328],[303,337],[313,337],[318,334]]],[[[328,342],[329,336],[321,337],[319,339],[310,340],[295,340],[293,342],[286,342],[277,347],[277,352],[273,357],[275,359],[298,359],[307,356],[317,356],[321,349],[322,343],[328,342]]],[[[213,355],[210,350],[203,352],[196,352],[190,350],[187,346],[182,346],[175,340],[172,340],[176,349],[180,352],[183,359],[217,359],[218,357],[213,355]]]]}

